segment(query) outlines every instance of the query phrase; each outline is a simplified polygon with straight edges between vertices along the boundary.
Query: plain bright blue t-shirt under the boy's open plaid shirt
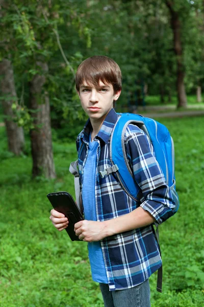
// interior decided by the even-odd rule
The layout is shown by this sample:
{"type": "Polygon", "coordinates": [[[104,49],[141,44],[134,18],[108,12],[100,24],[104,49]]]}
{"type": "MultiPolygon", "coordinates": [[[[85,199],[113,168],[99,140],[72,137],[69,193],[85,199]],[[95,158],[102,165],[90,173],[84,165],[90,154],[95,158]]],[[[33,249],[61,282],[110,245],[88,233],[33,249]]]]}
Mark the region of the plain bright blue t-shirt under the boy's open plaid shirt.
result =
{"type": "MultiPolygon", "coordinates": [[[[90,134],[88,156],[84,166],[82,189],[84,215],[85,219],[88,221],[97,221],[95,207],[95,180],[98,145],[97,141],[91,142],[90,134]]],[[[88,250],[92,279],[97,282],[108,283],[100,241],[89,242],[88,250]]]]}

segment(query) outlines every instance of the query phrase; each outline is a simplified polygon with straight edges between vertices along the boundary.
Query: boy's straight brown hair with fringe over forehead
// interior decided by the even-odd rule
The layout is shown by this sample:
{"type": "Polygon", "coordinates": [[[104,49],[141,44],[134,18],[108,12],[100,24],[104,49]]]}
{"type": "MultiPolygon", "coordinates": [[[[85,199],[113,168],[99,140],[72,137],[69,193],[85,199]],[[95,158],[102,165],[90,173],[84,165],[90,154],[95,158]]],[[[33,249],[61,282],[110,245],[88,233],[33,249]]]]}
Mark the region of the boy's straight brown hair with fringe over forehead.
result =
{"type": "Polygon", "coordinates": [[[111,58],[95,55],[84,60],[78,67],[75,77],[76,89],[86,81],[88,85],[98,87],[99,81],[111,83],[114,94],[122,88],[122,74],[118,64],[111,58]]]}

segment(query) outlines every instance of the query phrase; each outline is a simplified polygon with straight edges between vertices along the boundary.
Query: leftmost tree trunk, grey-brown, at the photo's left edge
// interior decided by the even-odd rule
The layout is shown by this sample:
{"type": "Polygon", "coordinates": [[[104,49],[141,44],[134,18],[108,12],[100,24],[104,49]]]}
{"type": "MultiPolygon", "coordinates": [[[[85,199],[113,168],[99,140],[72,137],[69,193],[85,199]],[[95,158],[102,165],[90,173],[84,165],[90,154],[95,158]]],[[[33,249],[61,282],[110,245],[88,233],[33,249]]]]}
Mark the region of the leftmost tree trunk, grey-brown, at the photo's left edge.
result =
{"type": "Polygon", "coordinates": [[[8,148],[9,151],[13,152],[15,155],[20,155],[24,146],[24,134],[23,128],[12,121],[14,117],[12,104],[17,100],[17,96],[13,68],[10,60],[3,59],[0,62],[0,76],[1,92],[5,96],[5,100],[2,100],[2,106],[5,115],[8,148]]]}

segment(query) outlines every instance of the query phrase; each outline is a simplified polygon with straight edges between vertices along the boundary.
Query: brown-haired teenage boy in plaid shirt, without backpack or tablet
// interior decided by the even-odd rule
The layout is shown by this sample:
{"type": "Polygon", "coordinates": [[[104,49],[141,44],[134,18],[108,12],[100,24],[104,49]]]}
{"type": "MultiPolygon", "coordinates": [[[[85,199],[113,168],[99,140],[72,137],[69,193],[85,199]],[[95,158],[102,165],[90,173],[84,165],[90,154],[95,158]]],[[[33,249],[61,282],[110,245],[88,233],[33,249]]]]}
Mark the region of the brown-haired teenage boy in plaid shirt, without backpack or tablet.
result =
{"type": "MultiPolygon", "coordinates": [[[[162,264],[152,223],[173,215],[174,203],[148,137],[130,124],[125,132],[126,155],[141,189],[136,202],[120,186],[111,167],[110,137],[118,115],[113,109],[121,93],[121,71],[106,56],[83,61],[76,88],[89,116],[77,138],[78,165],[85,220],[75,233],[88,242],[92,278],[99,282],[105,307],[149,307],[149,276],[162,264]]],[[[58,230],[67,218],[51,210],[58,230]]]]}

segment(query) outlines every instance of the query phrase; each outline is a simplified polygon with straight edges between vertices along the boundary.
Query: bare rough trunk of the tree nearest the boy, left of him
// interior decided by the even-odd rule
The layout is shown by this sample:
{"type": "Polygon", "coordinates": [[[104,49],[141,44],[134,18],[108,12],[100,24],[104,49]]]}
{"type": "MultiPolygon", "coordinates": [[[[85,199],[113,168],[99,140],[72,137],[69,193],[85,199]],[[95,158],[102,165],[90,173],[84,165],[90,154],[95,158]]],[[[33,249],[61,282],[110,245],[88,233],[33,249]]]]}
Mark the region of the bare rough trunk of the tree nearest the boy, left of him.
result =
{"type": "MultiPolygon", "coordinates": [[[[42,72],[48,71],[46,63],[36,62],[42,72]]],[[[30,108],[35,111],[31,115],[35,129],[30,131],[33,158],[33,177],[45,176],[55,178],[53,160],[52,131],[50,125],[50,107],[47,93],[42,93],[45,83],[44,75],[35,75],[30,82],[30,108]]]]}

